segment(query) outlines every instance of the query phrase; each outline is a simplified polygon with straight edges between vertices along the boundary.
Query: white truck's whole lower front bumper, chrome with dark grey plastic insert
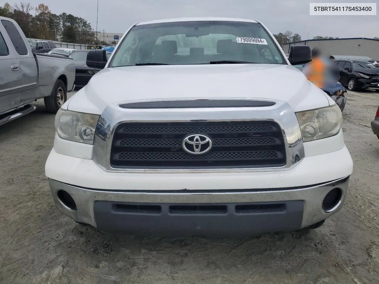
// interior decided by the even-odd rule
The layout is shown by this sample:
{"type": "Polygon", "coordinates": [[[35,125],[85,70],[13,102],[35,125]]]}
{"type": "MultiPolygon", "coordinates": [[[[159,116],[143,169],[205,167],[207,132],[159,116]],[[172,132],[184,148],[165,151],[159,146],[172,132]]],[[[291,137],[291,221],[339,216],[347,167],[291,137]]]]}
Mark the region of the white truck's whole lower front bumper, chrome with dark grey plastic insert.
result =
{"type": "Polygon", "coordinates": [[[164,236],[248,236],[305,228],[340,210],[348,183],[349,177],[299,188],[112,192],[49,179],[56,206],[76,222],[164,236]],[[341,200],[327,213],[321,204],[336,187],[341,200]],[[58,198],[60,190],[70,194],[76,210],[58,198]]]}

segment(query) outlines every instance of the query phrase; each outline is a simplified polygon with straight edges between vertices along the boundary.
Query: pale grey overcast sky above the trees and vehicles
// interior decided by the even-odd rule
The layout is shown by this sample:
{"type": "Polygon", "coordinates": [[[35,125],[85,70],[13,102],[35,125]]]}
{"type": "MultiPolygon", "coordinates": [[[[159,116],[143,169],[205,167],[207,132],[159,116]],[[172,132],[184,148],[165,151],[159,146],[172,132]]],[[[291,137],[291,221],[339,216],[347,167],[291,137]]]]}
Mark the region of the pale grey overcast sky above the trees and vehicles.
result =
{"type": "MultiPolygon", "coordinates": [[[[44,3],[54,14],[66,12],[82,17],[96,30],[97,0],[22,1],[34,7],[44,3]]],[[[375,3],[377,0],[343,1],[348,2],[375,3]]],[[[13,5],[13,2],[9,3],[13,5]]],[[[256,19],[274,34],[290,30],[300,34],[302,39],[314,36],[379,37],[378,15],[310,16],[309,2],[305,0],[99,0],[97,30],[124,33],[134,23],[146,20],[215,16],[256,19]]]]}

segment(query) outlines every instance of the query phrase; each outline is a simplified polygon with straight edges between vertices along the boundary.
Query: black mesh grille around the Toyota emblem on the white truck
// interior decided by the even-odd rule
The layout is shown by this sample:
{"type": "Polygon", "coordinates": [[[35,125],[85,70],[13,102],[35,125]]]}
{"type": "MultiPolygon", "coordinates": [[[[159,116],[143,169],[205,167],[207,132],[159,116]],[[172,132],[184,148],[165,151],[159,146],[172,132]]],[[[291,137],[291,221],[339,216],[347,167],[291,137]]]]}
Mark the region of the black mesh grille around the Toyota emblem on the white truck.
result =
{"type": "Polygon", "coordinates": [[[282,131],[275,122],[123,123],[113,136],[114,168],[280,167],[285,165],[282,131]],[[205,134],[213,141],[205,154],[190,154],[182,141],[205,134]]]}

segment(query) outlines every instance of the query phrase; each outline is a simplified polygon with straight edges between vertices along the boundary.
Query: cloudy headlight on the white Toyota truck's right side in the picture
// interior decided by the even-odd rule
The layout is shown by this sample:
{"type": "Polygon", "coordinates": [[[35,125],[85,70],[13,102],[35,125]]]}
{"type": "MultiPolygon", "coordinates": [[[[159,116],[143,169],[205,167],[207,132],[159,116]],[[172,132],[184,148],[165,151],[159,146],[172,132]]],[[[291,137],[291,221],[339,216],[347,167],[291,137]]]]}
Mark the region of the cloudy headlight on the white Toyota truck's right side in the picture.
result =
{"type": "Polygon", "coordinates": [[[326,108],[297,112],[303,142],[337,134],[342,126],[342,113],[337,104],[326,108]]]}

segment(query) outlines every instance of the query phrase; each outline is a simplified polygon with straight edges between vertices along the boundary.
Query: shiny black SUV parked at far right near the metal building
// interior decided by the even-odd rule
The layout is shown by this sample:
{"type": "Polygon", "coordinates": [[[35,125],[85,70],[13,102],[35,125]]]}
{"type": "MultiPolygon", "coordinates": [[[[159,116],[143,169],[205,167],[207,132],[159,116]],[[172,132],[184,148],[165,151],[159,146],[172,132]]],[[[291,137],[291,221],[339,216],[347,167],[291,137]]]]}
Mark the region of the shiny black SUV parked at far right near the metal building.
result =
{"type": "Polygon", "coordinates": [[[340,83],[348,90],[375,89],[379,92],[379,69],[366,61],[336,60],[340,68],[340,83]]]}

